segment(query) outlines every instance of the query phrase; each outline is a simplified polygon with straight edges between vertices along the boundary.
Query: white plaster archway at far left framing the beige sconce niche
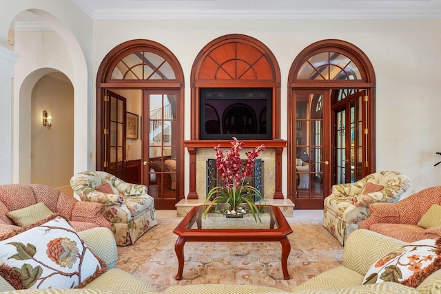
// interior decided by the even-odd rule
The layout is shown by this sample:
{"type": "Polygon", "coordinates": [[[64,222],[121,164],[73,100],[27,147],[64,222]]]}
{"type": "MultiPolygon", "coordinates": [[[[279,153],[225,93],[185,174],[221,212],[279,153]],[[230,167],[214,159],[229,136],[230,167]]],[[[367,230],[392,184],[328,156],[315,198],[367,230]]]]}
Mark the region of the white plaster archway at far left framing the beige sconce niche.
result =
{"type": "MultiPolygon", "coordinates": [[[[92,142],[91,134],[88,132],[88,70],[83,56],[83,51],[75,36],[65,27],[59,19],[43,10],[30,9],[40,17],[42,21],[53,28],[51,31],[54,36],[61,40],[57,46],[52,45],[54,52],[30,52],[26,48],[25,42],[15,42],[14,50],[20,51],[23,48],[23,58],[16,63],[16,74],[14,78],[14,98],[13,98],[13,130],[12,130],[12,150],[13,150],[13,174],[12,182],[29,183],[30,162],[31,162],[31,134],[30,134],[30,95],[34,84],[41,76],[51,71],[58,70],[63,72],[72,81],[74,87],[74,172],[83,171],[90,168],[88,162],[89,143],[92,142]],[[57,62],[57,49],[65,53],[63,62],[57,62]],[[34,54],[34,55],[32,55],[34,54]],[[29,63],[33,59],[38,63],[29,63]],[[68,59],[65,57],[68,56],[68,59]],[[51,67],[48,69],[47,67],[51,67]],[[41,70],[41,71],[39,71],[41,70]]],[[[17,32],[16,32],[17,34],[17,32]]],[[[43,32],[39,32],[43,34],[43,32]]],[[[22,39],[28,40],[26,38],[22,39]]],[[[37,40],[37,39],[35,39],[37,40]]],[[[41,40],[40,40],[41,41],[41,40]]],[[[30,46],[28,46],[30,47],[30,46]]],[[[60,52],[60,53],[61,53],[60,52]]],[[[68,182],[66,183],[68,185],[68,182]]]]}

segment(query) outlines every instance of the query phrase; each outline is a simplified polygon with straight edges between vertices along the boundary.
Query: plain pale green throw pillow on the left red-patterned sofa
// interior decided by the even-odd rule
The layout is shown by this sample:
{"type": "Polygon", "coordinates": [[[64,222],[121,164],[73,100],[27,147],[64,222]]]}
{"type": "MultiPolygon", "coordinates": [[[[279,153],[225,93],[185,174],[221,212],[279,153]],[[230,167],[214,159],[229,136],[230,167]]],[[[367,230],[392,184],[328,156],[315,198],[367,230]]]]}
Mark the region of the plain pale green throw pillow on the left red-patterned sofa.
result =
{"type": "Polygon", "coordinates": [[[6,216],[20,227],[26,227],[35,222],[39,222],[48,216],[54,214],[43,202],[38,202],[37,204],[24,207],[22,209],[17,209],[9,211],[6,216]]]}

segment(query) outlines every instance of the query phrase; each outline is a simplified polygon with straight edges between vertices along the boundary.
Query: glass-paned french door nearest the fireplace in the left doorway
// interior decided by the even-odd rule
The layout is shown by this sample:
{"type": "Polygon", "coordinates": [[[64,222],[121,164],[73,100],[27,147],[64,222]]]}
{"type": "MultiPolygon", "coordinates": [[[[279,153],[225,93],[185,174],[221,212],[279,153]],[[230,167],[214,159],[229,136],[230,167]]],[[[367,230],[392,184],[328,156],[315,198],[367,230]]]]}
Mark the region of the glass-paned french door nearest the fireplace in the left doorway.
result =
{"type": "Polygon", "coordinates": [[[176,209],[178,201],[177,98],[178,90],[143,91],[143,184],[157,209],[176,209]]]}

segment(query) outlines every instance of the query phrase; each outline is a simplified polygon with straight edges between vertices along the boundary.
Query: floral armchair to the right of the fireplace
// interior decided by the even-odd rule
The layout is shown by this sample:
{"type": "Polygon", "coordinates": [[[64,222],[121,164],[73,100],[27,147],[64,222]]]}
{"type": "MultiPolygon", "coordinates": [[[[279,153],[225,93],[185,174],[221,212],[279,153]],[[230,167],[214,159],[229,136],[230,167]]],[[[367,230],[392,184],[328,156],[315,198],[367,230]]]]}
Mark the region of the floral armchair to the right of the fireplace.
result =
{"type": "Polygon", "coordinates": [[[334,185],[325,198],[323,226],[345,245],[347,236],[369,216],[369,204],[397,202],[409,187],[409,178],[397,171],[380,171],[353,183],[334,185]]]}

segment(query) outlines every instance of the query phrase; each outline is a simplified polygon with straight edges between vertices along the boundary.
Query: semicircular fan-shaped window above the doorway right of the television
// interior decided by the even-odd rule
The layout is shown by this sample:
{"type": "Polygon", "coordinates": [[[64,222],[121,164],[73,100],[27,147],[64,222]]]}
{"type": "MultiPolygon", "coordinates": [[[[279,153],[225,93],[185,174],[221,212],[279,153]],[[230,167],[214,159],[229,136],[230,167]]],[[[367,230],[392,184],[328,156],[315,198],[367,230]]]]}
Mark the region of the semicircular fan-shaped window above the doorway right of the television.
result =
{"type": "Polygon", "coordinates": [[[302,64],[298,80],[362,80],[360,70],[348,56],[338,52],[320,52],[302,64]]]}

